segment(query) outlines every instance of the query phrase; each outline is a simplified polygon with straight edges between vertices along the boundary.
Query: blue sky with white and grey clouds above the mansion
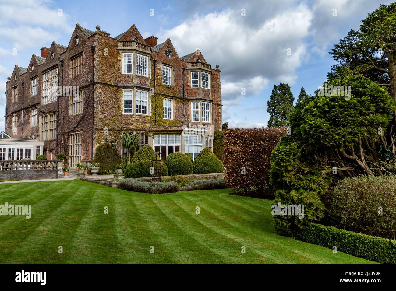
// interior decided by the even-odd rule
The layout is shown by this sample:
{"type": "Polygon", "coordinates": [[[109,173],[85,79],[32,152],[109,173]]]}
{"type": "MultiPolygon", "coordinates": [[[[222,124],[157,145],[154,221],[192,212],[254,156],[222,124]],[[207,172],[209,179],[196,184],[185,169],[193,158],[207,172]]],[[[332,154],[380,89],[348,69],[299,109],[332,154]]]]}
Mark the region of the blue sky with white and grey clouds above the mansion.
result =
{"type": "Polygon", "coordinates": [[[0,0],[0,130],[5,82],[15,64],[27,67],[32,54],[40,55],[40,48],[52,41],[67,45],[76,23],[91,30],[100,25],[111,36],[135,24],[143,37],[155,35],[158,43],[169,37],[180,57],[199,48],[221,70],[223,121],[230,127],[265,126],[274,84],[288,83],[295,100],[301,87],[312,93],[334,64],[328,53],[333,44],[358,29],[360,20],[379,4],[389,3],[0,0]],[[246,95],[241,95],[242,88],[246,95]]]}

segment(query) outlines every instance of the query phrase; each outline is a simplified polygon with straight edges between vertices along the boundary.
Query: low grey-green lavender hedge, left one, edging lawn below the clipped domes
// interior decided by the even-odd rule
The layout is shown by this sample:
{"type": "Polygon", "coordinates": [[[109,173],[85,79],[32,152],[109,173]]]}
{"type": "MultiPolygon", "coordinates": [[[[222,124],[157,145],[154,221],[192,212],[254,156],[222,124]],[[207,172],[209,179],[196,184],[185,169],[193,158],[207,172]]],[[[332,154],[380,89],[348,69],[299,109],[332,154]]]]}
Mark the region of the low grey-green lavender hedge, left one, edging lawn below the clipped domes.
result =
{"type": "Polygon", "coordinates": [[[172,193],[180,191],[175,182],[143,182],[134,179],[122,179],[117,184],[118,189],[150,194],[172,193]]]}

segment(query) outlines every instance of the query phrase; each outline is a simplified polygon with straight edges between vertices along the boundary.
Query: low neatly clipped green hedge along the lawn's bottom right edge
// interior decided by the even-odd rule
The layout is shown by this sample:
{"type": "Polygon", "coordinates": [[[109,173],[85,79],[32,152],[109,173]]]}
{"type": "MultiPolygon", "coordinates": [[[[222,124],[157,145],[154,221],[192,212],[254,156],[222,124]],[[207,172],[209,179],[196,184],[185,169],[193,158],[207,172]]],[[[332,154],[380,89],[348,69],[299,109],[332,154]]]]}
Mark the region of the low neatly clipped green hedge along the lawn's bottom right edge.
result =
{"type": "Polygon", "coordinates": [[[299,232],[298,239],[330,249],[336,246],[337,251],[370,261],[387,264],[396,263],[395,240],[368,236],[316,223],[308,223],[299,232]]]}

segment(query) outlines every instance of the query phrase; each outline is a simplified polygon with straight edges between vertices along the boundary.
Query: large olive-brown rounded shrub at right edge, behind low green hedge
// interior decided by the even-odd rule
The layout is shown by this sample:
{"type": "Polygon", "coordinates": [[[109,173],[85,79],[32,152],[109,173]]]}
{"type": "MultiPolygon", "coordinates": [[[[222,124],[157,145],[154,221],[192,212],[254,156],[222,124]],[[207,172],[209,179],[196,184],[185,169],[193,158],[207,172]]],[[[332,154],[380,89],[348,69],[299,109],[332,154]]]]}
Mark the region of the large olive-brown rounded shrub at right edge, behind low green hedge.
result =
{"type": "Polygon", "coordinates": [[[358,176],[330,194],[329,219],[337,228],[396,239],[396,177],[358,176]]]}

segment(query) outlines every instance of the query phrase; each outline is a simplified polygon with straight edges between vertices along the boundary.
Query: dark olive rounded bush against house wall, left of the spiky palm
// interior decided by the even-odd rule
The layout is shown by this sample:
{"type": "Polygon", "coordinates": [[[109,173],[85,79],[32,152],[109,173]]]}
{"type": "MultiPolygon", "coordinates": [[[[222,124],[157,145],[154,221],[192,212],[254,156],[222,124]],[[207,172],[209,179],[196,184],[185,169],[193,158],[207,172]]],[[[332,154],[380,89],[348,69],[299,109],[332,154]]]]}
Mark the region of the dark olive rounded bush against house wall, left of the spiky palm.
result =
{"type": "Polygon", "coordinates": [[[95,148],[93,162],[100,164],[99,173],[103,174],[106,171],[114,172],[116,166],[121,163],[121,157],[109,143],[103,143],[95,148]]]}

